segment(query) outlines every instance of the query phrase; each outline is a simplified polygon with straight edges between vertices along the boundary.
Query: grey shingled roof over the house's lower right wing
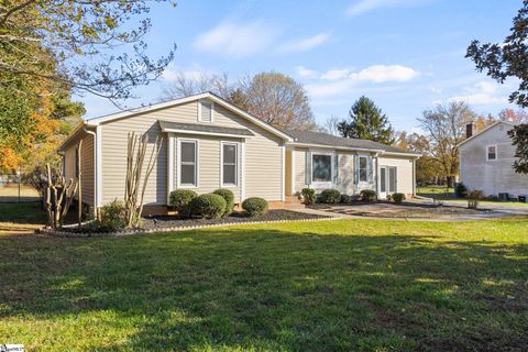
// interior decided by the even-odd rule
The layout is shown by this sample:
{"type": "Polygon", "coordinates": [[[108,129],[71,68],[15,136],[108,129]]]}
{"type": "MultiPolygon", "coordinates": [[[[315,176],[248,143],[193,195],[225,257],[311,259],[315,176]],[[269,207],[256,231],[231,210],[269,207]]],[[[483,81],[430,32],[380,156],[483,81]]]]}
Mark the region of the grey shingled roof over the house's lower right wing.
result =
{"type": "Polygon", "coordinates": [[[394,154],[407,154],[407,155],[419,155],[416,153],[403,151],[400,148],[385,145],[378,142],[360,140],[360,139],[345,139],[341,136],[331,135],[322,132],[307,132],[307,131],[287,131],[289,135],[294,138],[293,144],[307,144],[307,145],[322,145],[331,147],[344,147],[344,148],[356,148],[356,150],[367,150],[367,151],[377,151],[381,153],[394,153],[394,154]]]}

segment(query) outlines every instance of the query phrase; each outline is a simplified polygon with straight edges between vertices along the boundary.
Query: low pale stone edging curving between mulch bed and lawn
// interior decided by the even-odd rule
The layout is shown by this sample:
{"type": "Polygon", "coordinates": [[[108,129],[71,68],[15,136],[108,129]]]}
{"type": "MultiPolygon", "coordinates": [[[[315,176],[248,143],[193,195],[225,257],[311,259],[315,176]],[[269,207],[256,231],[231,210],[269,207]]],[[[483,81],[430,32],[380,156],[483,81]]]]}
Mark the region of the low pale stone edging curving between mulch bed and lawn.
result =
{"type": "Polygon", "coordinates": [[[308,222],[308,221],[328,221],[328,220],[339,220],[339,218],[327,217],[327,218],[320,218],[320,219],[298,219],[298,220],[262,220],[262,221],[255,220],[255,221],[246,221],[246,222],[197,224],[197,226],[189,226],[189,227],[136,229],[136,230],[127,230],[127,231],[117,231],[117,232],[72,232],[72,231],[62,231],[62,230],[55,230],[55,229],[38,229],[35,231],[35,233],[59,237],[59,238],[102,238],[102,237],[122,237],[122,235],[132,235],[132,234],[176,232],[176,231],[198,230],[198,229],[207,229],[207,228],[221,228],[221,227],[235,226],[235,224],[244,226],[244,224],[308,222]]]}

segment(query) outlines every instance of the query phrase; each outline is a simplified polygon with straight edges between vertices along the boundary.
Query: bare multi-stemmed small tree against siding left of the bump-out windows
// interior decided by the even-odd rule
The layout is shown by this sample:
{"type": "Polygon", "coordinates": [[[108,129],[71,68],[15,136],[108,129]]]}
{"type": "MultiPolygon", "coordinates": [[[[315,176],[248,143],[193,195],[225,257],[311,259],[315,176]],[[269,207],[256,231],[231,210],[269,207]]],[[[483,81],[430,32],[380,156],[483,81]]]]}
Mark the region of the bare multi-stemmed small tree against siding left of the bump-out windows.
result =
{"type": "Polygon", "coordinates": [[[146,133],[139,135],[135,133],[129,133],[127,178],[124,186],[124,208],[128,228],[138,227],[140,224],[146,185],[148,183],[148,177],[156,165],[156,160],[162,148],[162,142],[163,138],[156,136],[142,183],[148,135],[146,133]]]}

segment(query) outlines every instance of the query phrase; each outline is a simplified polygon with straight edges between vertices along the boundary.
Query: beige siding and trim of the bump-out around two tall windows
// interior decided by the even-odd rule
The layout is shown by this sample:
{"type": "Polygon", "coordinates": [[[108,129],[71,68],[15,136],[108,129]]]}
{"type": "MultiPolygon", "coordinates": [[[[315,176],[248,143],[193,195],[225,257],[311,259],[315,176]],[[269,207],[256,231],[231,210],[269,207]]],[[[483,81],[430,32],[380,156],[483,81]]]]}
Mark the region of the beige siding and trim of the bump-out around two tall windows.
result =
{"type": "Polygon", "coordinates": [[[241,202],[242,189],[242,143],[238,139],[222,139],[215,136],[199,136],[190,134],[170,134],[174,138],[174,189],[178,188],[178,140],[198,141],[198,187],[183,187],[193,189],[198,194],[212,193],[218,188],[227,188],[233,191],[235,202],[241,202]],[[220,178],[220,154],[222,142],[238,143],[238,185],[223,186],[220,178]]]}

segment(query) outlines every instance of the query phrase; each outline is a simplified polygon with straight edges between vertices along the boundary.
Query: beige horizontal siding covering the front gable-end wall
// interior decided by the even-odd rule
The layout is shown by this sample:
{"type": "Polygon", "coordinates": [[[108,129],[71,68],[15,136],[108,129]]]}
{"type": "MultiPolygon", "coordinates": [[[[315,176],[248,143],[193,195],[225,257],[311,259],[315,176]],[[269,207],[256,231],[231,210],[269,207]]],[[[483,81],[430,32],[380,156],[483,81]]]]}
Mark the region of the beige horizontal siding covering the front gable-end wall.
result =
{"type": "MultiPolygon", "coordinates": [[[[110,121],[101,125],[102,130],[102,199],[107,204],[114,198],[123,197],[124,177],[127,167],[127,133],[148,132],[150,141],[154,142],[161,134],[158,120],[185,123],[211,124],[211,122],[198,121],[198,101],[164,108],[144,113],[138,113],[125,119],[110,121]]],[[[280,200],[283,191],[282,179],[282,140],[267,132],[261,127],[239,117],[235,113],[215,105],[213,125],[230,128],[246,128],[255,136],[245,141],[245,197],[263,197],[266,200],[280,200]]],[[[166,205],[167,200],[167,138],[160,157],[151,175],[145,194],[145,205],[166,205]]],[[[211,141],[204,136],[195,135],[195,139],[211,141]]],[[[175,147],[177,143],[175,143],[175,147]]],[[[212,144],[206,143],[212,150],[212,144]]],[[[200,152],[199,184],[204,189],[216,189],[220,186],[220,150],[212,154],[200,152]],[[215,155],[216,154],[216,155],[215,155]],[[217,163],[218,162],[218,163],[217,163]],[[202,165],[209,165],[211,169],[205,169],[202,165]],[[204,169],[202,169],[204,168],[204,169]],[[215,185],[215,187],[213,187],[215,185]]],[[[201,147],[201,146],[200,146],[201,147]]],[[[175,153],[175,157],[177,153],[175,153]]],[[[175,163],[175,166],[177,163],[175,163]]],[[[241,165],[242,166],[242,162],[241,165]]],[[[177,175],[175,174],[175,180],[177,175]]]]}

